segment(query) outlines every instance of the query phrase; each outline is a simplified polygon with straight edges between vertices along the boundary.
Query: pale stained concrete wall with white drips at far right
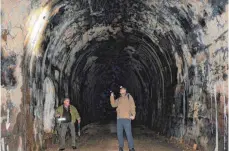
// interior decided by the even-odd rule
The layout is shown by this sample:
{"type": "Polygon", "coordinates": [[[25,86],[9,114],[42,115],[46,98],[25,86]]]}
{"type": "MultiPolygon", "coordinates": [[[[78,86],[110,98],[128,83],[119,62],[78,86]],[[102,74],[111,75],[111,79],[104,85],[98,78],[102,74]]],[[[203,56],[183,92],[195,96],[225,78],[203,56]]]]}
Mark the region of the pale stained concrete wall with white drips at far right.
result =
{"type": "MultiPolygon", "coordinates": [[[[198,7],[193,6],[200,12],[206,8],[201,2],[198,7]]],[[[205,150],[228,150],[228,15],[216,15],[216,10],[211,10],[203,29],[196,31],[200,35],[198,46],[202,48],[197,48],[192,58],[193,51],[183,54],[187,61],[178,66],[182,84],[177,85],[176,94],[183,100],[183,116],[187,114],[183,118],[185,139],[201,144],[205,150]]]]}

